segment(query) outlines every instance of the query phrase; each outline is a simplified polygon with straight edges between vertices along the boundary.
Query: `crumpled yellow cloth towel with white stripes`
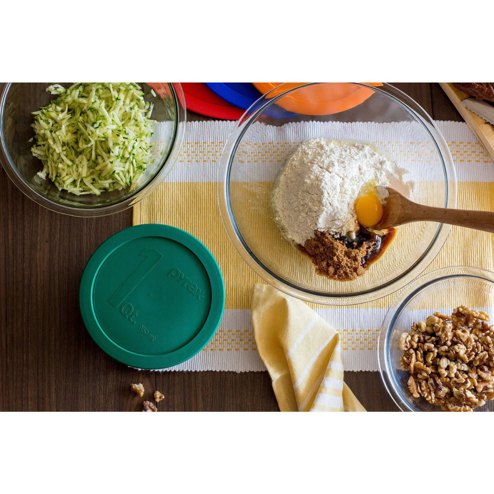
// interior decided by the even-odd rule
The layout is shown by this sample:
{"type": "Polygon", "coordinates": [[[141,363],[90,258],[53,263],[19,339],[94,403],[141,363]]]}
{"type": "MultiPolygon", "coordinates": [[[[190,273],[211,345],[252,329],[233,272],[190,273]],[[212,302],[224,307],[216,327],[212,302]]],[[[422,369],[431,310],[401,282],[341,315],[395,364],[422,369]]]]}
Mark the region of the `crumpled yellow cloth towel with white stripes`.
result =
{"type": "Polygon", "coordinates": [[[343,382],[338,331],[308,305],[256,283],[252,325],[282,412],[365,412],[343,382]]]}

